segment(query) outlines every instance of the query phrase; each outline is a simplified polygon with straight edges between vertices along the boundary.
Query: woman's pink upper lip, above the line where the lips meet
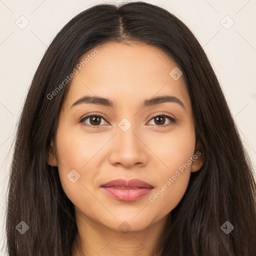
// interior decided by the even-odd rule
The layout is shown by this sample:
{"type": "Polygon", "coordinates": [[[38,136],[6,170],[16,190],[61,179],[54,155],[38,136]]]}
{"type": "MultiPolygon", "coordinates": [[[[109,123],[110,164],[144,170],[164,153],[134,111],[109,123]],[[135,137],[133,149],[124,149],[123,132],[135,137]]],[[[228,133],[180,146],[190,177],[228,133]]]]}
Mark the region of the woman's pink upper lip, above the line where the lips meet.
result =
{"type": "Polygon", "coordinates": [[[104,186],[104,187],[109,187],[109,186],[153,187],[152,185],[148,184],[147,182],[140,180],[140,179],[136,179],[136,178],[132,178],[129,180],[117,178],[117,179],[110,180],[110,181],[102,184],[101,186],[104,186]]]}

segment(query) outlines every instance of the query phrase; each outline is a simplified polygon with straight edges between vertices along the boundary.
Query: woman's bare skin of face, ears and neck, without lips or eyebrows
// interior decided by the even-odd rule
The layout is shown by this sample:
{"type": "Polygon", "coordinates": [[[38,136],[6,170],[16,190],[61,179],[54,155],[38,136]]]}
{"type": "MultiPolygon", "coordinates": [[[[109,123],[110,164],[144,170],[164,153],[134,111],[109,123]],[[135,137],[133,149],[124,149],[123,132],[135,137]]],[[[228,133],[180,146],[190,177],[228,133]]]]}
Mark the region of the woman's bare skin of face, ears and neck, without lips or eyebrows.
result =
{"type": "MultiPolygon", "coordinates": [[[[203,164],[202,154],[153,202],[154,195],[197,150],[190,98],[181,76],[169,72],[176,64],[159,48],[143,43],[109,42],[73,77],[59,113],[48,164],[58,166],[60,181],[75,208],[77,244],[84,255],[152,255],[166,224],[167,214],[183,197],[191,171],[203,164]],[[115,107],[71,105],[84,95],[111,99],[115,107]],[[180,99],[141,108],[145,99],[171,95],[180,99]],[[100,127],[86,114],[101,114],[100,127]],[[153,116],[166,114],[176,122],[166,127],[153,116]],[[118,123],[126,118],[127,131],[118,123]],[[107,125],[108,124],[108,125],[107,125]],[[72,183],[67,174],[80,177],[72,183]],[[138,178],[151,184],[151,192],[135,201],[109,197],[100,185],[115,178],[138,178]],[[130,228],[121,232],[126,221],[130,228]],[[78,239],[79,238],[79,239],[78,239]]],[[[81,60],[92,50],[81,56],[81,60]]],[[[165,118],[163,123],[170,124],[165,118]]],[[[73,244],[74,245],[74,244],[73,244]]],[[[73,246],[72,256],[82,255],[73,246]]]]}

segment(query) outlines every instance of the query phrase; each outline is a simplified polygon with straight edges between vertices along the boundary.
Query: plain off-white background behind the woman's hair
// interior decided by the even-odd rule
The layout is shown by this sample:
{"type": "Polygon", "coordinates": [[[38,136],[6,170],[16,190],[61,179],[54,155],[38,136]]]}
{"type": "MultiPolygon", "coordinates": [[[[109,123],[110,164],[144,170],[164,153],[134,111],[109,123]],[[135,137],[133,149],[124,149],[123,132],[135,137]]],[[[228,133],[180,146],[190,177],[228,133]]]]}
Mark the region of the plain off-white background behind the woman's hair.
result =
{"type": "MultiPolygon", "coordinates": [[[[5,206],[13,136],[28,86],[47,46],[64,24],[80,11],[103,2],[123,1],[0,0],[1,247],[5,246],[5,206]],[[25,22],[28,25],[20,27],[25,22]]],[[[203,46],[255,170],[256,0],[146,2],[164,7],[180,18],[203,46]]]]}

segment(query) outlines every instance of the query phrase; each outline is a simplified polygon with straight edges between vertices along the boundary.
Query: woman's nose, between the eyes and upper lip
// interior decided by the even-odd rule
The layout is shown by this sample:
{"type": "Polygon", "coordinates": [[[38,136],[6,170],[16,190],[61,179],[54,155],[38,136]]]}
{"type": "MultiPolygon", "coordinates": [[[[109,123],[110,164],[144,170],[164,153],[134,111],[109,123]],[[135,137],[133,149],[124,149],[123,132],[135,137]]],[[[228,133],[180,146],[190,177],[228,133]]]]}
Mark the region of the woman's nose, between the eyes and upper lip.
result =
{"type": "Polygon", "coordinates": [[[117,128],[117,134],[112,139],[110,147],[109,162],[111,164],[130,168],[133,165],[143,166],[147,163],[148,155],[144,138],[139,132],[136,133],[132,125],[126,131],[117,128]]]}

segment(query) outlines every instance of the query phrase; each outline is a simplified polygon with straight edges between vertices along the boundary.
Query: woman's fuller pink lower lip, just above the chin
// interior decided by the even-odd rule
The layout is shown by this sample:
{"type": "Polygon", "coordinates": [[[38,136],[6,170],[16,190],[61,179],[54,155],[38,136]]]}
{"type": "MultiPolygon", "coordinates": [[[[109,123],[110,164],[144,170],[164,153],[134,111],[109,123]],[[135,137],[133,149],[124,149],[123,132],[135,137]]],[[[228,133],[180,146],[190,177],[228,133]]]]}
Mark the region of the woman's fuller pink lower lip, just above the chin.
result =
{"type": "Polygon", "coordinates": [[[112,186],[109,186],[109,187],[102,186],[102,188],[109,196],[122,201],[137,200],[140,197],[148,194],[152,190],[152,187],[121,189],[121,188],[115,188],[112,186]]]}

